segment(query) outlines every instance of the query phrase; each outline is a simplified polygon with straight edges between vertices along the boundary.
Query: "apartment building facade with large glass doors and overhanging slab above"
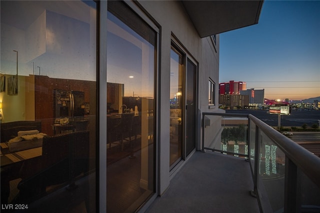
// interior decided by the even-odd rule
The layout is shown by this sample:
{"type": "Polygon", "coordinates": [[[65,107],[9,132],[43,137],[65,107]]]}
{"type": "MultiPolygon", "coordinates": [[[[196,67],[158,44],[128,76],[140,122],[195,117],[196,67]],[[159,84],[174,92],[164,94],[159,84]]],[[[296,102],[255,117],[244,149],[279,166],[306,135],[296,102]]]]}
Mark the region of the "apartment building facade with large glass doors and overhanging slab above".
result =
{"type": "Polygon", "coordinates": [[[1,206],[134,212],[201,148],[219,33],[256,24],[262,1],[0,5],[1,206]]]}

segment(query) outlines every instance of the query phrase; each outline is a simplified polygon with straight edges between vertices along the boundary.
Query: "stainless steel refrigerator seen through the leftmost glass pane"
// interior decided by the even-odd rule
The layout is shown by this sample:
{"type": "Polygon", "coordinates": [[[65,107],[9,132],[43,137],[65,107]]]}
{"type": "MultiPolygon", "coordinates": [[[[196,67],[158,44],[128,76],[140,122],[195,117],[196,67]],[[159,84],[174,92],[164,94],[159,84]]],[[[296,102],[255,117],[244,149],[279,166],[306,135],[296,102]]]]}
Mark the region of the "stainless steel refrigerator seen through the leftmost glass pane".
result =
{"type": "Polygon", "coordinates": [[[68,117],[71,120],[84,116],[84,92],[54,89],[54,117],[68,117]]]}

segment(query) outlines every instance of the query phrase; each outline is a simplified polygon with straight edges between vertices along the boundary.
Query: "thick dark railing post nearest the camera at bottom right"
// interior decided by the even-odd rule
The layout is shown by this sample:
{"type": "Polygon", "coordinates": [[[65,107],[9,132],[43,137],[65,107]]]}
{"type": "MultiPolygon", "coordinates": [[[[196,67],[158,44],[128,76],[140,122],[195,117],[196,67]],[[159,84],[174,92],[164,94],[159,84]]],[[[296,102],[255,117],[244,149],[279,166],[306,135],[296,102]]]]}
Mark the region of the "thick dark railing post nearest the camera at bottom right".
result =
{"type": "Polygon", "coordinates": [[[297,166],[285,156],[284,213],[301,212],[301,175],[297,166]]]}

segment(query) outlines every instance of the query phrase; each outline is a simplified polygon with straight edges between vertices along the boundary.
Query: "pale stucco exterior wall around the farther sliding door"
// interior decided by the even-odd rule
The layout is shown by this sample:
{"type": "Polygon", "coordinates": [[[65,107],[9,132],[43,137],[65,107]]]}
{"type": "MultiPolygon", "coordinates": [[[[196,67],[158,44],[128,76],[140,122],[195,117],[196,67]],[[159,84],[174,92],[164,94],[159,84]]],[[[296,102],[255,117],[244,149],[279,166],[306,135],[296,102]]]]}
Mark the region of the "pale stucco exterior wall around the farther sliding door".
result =
{"type": "MultiPolygon", "coordinates": [[[[190,21],[181,2],[179,1],[139,1],[139,4],[153,18],[160,28],[160,61],[159,61],[159,194],[162,194],[170,182],[169,172],[169,84],[170,81],[170,48],[171,33],[177,38],[184,50],[198,62],[198,116],[202,111],[214,112],[218,110],[218,60],[219,36],[216,36],[216,51],[209,37],[200,38],[190,21]],[[208,78],[215,82],[215,103],[208,108],[208,78]]],[[[200,120],[198,117],[196,120],[200,120]]],[[[212,129],[220,128],[220,122],[211,121],[212,129]]],[[[197,149],[201,145],[201,128],[197,128],[197,149]]]]}

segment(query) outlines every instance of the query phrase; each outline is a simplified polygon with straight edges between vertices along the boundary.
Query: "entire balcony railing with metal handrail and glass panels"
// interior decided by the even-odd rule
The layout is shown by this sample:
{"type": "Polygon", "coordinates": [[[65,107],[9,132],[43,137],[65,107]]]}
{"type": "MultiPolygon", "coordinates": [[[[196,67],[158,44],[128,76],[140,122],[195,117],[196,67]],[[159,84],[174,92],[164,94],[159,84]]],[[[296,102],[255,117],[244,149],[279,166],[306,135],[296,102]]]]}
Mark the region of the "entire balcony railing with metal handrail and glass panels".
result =
{"type": "Polygon", "coordinates": [[[204,149],[249,161],[261,212],[320,212],[320,157],[255,116],[202,112],[204,149]]]}

